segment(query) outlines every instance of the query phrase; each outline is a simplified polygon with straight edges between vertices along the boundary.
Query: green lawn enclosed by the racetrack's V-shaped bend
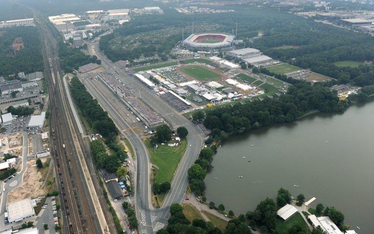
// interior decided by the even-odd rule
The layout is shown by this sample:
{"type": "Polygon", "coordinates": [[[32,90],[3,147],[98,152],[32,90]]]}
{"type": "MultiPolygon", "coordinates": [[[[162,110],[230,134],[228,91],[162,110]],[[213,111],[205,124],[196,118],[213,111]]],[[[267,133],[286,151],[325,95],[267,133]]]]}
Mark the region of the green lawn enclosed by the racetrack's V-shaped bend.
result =
{"type": "Polygon", "coordinates": [[[155,180],[157,183],[170,182],[186,149],[187,140],[181,141],[181,144],[176,147],[158,144],[158,147],[154,149],[150,145],[150,140],[147,139],[146,145],[150,152],[151,163],[158,168],[155,180]]]}

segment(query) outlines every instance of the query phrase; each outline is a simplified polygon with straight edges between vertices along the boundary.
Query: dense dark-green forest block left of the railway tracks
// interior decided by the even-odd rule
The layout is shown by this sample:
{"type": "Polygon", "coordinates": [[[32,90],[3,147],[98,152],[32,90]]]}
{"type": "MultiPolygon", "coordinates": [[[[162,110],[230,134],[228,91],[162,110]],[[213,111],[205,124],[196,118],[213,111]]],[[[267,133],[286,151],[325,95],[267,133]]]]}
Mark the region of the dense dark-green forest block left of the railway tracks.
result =
{"type": "Polygon", "coordinates": [[[25,74],[44,71],[40,38],[37,28],[19,26],[3,28],[0,32],[0,76],[24,72],[25,74]],[[20,50],[12,45],[16,38],[23,43],[20,50]]]}

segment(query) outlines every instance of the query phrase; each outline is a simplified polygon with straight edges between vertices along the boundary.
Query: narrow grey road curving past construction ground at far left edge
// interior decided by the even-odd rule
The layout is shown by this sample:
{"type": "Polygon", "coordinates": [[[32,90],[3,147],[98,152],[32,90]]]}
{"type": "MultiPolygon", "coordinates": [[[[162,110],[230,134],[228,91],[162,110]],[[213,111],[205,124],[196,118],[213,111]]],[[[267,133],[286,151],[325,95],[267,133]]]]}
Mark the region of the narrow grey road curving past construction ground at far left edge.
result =
{"type": "MultiPolygon", "coordinates": [[[[23,181],[23,174],[26,172],[27,169],[27,142],[28,137],[26,132],[20,132],[22,135],[22,169],[18,173],[18,175],[10,180],[8,182],[4,183],[1,182],[1,192],[3,191],[3,188],[5,188],[5,192],[1,193],[1,210],[0,210],[0,230],[4,230],[4,213],[6,210],[6,201],[8,197],[8,193],[21,185],[23,181]]],[[[6,226],[6,228],[9,228],[9,225],[6,226]]]]}

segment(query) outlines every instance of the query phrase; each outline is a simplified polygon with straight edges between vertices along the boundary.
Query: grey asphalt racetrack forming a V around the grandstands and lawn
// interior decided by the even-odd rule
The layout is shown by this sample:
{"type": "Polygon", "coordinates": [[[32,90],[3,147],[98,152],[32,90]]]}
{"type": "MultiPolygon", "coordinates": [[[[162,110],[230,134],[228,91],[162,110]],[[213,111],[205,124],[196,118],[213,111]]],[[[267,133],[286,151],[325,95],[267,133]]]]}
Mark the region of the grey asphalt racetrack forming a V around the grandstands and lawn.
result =
{"type": "MultiPolygon", "coordinates": [[[[144,145],[144,142],[134,133],[126,132],[136,156],[136,191],[135,191],[135,207],[136,215],[140,222],[140,233],[152,234],[161,229],[168,223],[169,207],[173,203],[181,203],[187,189],[187,170],[197,159],[200,150],[203,147],[205,135],[201,129],[188,121],[178,111],[168,105],[163,99],[159,98],[154,92],[148,89],[144,84],[140,83],[136,78],[129,77],[126,72],[120,69],[115,63],[109,60],[98,48],[98,42],[89,45],[91,55],[96,55],[101,59],[101,65],[112,73],[113,76],[119,78],[133,94],[138,96],[148,104],[155,112],[160,114],[172,128],[185,126],[188,130],[188,144],[186,153],[181,159],[177,171],[171,181],[171,189],[164,198],[163,205],[160,209],[154,209],[151,203],[150,188],[150,156],[144,145]],[[148,94],[148,95],[147,95],[148,94]]],[[[85,85],[90,83],[86,80],[85,85]]],[[[94,88],[89,88],[90,92],[94,88]]],[[[105,105],[110,117],[116,124],[128,128],[129,125],[125,119],[112,108],[112,103],[100,95],[100,91],[96,90],[93,94],[100,104],[105,105]]]]}

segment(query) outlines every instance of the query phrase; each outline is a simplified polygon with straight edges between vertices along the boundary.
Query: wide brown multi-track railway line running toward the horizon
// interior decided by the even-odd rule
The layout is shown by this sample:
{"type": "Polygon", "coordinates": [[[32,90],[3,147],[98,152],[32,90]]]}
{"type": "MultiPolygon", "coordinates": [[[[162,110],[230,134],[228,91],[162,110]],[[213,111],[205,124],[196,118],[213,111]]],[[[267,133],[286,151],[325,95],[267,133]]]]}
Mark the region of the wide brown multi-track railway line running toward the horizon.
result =
{"type": "MultiPolygon", "coordinates": [[[[37,18],[38,19],[38,18],[37,18]]],[[[89,190],[85,177],[82,176],[82,168],[79,167],[78,152],[75,149],[76,139],[74,127],[69,124],[69,110],[66,105],[66,97],[62,90],[59,76],[58,51],[56,40],[48,35],[50,29],[38,19],[38,23],[44,31],[43,57],[50,94],[51,116],[50,129],[51,151],[55,160],[58,175],[57,186],[60,202],[63,208],[63,229],[69,234],[103,233],[100,222],[90,200],[89,190]],[[52,51],[51,49],[55,50],[52,51]],[[73,127],[73,129],[71,129],[73,127]]]]}

